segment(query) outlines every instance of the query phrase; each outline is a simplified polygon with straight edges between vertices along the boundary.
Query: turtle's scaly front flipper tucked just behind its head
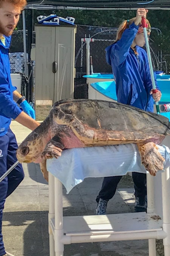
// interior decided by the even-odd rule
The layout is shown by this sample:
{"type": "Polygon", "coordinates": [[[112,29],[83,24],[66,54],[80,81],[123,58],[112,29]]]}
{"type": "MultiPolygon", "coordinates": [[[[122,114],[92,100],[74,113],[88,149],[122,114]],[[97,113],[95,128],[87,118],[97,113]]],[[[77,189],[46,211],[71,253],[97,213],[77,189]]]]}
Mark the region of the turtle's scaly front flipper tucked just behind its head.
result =
{"type": "Polygon", "coordinates": [[[50,158],[58,158],[61,156],[62,149],[64,148],[64,145],[62,142],[58,141],[59,137],[54,136],[45,146],[45,149],[43,150],[41,154],[42,159],[50,159],[50,158]]]}

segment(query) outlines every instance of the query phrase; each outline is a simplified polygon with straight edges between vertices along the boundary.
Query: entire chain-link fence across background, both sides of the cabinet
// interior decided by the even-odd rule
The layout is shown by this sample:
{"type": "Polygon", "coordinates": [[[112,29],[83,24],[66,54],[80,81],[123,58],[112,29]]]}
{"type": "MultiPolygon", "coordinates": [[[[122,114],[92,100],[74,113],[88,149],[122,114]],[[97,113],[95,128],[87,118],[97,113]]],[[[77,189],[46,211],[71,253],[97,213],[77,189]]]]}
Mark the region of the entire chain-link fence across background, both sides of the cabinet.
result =
{"type": "MultiPolygon", "coordinates": [[[[116,33],[117,28],[77,25],[75,42],[75,99],[88,98],[88,85],[86,83],[86,79],[83,78],[83,75],[87,74],[87,49],[85,38],[94,39],[90,42],[90,55],[92,56],[93,60],[93,72],[110,74],[112,73],[112,70],[111,66],[109,66],[105,61],[105,48],[114,42],[116,38],[116,33]],[[84,39],[84,41],[82,41],[82,39],[84,39]]],[[[169,74],[170,47],[169,45],[164,45],[164,41],[162,40],[163,37],[166,37],[166,35],[162,35],[159,28],[152,27],[151,36],[149,39],[151,60],[153,63],[153,69],[155,71],[161,70],[164,71],[166,74],[169,74]]],[[[9,58],[11,62],[11,73],[24,72],[25,67],[22,31],[17,31],[13,35],[9,58]]],[[[27,61],[29,60],[27,59],[27,61]]],[[[33,63],[33,66],[35,66],[35,63],[33,63]]],[[[31,78],[31,75],[29,76],[29,79],[31,79],[31,83],[34,83],[34,79],[31,78]]],[[[31,87],[33,88],[34,85],[32,84],[31,87]]]]}

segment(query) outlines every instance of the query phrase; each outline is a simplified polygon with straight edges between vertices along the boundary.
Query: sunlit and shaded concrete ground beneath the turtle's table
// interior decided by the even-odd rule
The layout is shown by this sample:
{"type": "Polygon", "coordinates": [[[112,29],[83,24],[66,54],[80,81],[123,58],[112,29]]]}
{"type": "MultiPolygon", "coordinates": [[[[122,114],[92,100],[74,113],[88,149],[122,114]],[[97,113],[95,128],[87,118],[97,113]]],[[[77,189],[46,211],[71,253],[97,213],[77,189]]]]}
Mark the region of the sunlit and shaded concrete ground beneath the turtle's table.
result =
{"type": "MultiPolygon", "coordinates": [[[[12,121],[11,129],[20,144],[31,132],[12,121]]],[[[49,256],[48,184],[39,164],[23,164],[25,179],[6,200],[3,240],[14,256],[49,256]]],[[[102,178],[87,178],[66,195],[63,187],[63,215],[94,215],[96,195],[102,178]]],[[[107,213],[133,212],[133,184],[124,178],[108,203],[107,213]]],[[[148,240],[77,243],[65,245],[64,256],[146,256],[148,240]]]]}

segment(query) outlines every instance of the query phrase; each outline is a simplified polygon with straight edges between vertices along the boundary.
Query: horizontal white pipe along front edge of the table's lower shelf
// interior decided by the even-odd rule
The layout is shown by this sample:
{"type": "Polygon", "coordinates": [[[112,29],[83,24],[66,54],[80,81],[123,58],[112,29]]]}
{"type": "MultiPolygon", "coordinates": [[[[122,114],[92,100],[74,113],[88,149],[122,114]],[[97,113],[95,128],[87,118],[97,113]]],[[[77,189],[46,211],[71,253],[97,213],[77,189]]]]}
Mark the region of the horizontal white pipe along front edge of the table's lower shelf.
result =
{"type": "MultiPolygon", "coordinates": [[[[159,231],[144,231],[144,232],[128,232],[107,235],[89,235],[89,236],[63,236],[62,242],[64,244],[71,243],[92,243],[92,242],[109,242],[109,241],[125,241],[140,240],[140,239],[163,239],[166,233],[163,230],[159,231]],[[70,240],[71,239],[71,240],[70,240]]],[[[169,255],[168,255],[169,256],[169,255]]]]}

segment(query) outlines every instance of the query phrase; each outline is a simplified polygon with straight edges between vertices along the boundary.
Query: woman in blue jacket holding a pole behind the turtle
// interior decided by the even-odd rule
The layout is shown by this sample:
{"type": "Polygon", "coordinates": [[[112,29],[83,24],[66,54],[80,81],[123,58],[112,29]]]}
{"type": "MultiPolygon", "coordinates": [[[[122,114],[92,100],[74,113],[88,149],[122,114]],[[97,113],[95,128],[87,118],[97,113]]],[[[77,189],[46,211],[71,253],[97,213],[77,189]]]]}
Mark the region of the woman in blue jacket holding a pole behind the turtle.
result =
{"type": "MultiPolygon", "coordinates": [[[[136,17],[124,20],[117,30],[115,42],[105,51],[106,61],[112,67],[116,82],[117,102],[153,112],[154,101],[160,101],[161,91],[155,77],[157,92],[153,93],[148,57],[146,51],[142,49],[145,37],[141,20],[142,17],[146,18],[147,13],[147,9],[139,8],[136,11],[136,17]]],[[[149,37],[151,27],[147,19],[146,24],[149,37]]],[[[106,214],[108,200],[114,196],[121,178],[122,176],[104,178],[96,198],[96,215],[106,214]]],[[[146,174],[133,172],[132,178],[135,195],[134,210],[146,211],[146,174]]]]}

